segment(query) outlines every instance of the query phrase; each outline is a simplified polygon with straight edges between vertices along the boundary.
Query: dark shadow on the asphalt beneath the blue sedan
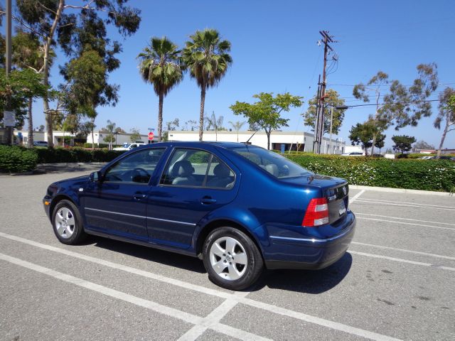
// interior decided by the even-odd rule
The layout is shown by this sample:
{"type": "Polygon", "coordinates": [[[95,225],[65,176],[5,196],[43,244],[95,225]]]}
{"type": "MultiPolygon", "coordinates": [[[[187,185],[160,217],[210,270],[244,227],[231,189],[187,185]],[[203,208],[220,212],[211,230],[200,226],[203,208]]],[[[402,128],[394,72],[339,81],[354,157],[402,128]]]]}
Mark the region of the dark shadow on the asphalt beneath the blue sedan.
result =
{"type": "MultiPolygon", "coordinates": [[[[179,269],[195,271],[205,274],[203,262],[191,256],[184,256],[170,251],[151,249],[137,244],[119,242],[114,239],[91,236],[86,244],[107,249],[110,251],[127,254],[129,256],[154,261],[156,263],[173,266],[179,269]]],[[[269,270],[264,271],[252,288],[246,291],[260,291],[264,287],[295,291],[299,293],[323,293],[341,283],[348,274],[353,262],[353,257],[346,253],[336,263],[321,270],[269,270]]]]}

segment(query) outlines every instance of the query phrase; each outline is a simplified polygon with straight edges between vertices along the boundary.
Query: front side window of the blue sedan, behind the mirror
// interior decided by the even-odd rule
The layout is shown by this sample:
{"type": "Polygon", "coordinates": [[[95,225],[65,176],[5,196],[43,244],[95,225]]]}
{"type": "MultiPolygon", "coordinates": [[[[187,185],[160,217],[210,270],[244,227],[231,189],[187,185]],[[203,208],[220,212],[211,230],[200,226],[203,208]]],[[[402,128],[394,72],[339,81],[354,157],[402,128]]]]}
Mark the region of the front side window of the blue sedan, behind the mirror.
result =
{"type": "Polygon", "coordinates": [[[147,148],[122,158],[105,173],[105,181],[114,183],[149,183],[166,148],[147,148]]]}

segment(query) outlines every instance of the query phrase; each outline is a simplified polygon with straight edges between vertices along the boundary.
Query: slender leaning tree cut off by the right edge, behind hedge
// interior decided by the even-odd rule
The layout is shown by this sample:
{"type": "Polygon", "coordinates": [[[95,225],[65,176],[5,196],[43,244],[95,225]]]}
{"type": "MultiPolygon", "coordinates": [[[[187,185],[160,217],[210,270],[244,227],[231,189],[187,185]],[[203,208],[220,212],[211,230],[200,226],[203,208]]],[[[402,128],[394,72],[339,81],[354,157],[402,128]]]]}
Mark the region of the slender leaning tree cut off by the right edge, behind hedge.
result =
{"type": "Polygon", "coordinates": [[[445,121],[444,131],[442,131],[441,142],[437,152],[437,157],[441,155],[442,146],[449,131],[455,130],[455,89],[446,87],[444,92],[439,94],[439,113],[434,120],[434,127],[441,129],[441,123],[445,121]]]}

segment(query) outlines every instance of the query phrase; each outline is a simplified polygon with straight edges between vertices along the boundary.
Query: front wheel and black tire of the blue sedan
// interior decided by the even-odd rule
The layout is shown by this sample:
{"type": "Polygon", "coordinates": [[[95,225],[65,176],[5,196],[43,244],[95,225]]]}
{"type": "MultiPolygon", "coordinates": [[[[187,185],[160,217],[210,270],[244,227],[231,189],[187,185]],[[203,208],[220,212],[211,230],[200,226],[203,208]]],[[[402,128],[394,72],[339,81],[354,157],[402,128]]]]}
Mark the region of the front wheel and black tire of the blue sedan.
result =
{"type": "Polygon", "coordinates": [[[52,212],[52,227],[55,237],[63,244],[79,244],[87,237],[79,210],[70,200],[61,200],[55,205],[52,212]],[[74,224],[71,224],[73,220],[74,224]]]}

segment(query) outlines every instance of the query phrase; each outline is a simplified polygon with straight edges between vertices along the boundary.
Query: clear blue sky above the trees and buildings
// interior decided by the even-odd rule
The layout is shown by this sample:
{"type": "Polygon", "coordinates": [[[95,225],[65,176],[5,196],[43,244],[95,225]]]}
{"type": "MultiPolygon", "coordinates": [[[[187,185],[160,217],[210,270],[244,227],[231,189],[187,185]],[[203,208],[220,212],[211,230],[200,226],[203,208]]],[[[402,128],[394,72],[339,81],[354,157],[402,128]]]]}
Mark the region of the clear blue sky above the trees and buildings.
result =
{"type": "MultiPolygon", "coordinates": [[[[136,56],[151,36],[167,36],[178,45],[198,29],[216,28],[232,43],[233,65],[220,85],[208,90],[205,109],[223,115],[228,121],[243,120],[230,112],[235,101],[252,101],[258,92],[291,92],[304,97],[299,109],[284,113],[289,118],[289,131],[309,131],[303,126],[301,112],[316,92],[322,71],[322,46],[316,45],[319,31],[328,30],[339,43],[333,48],[339,55],[338,70],[328,76],[329,87],[336,89],[346,104],[360,104],[353,99],[352,86],[368,82],[378,70],[391,79],[409,85],[419,63],[438,65],[437,91],[455,87],[455,1],[131,1],[142,11],[139,31],[123,41],[122,65],[109,80],[120,85],[117,107],[102,107],[96,124],[105,126],[107,119],[129,131],[138,127],[156,127],[158,99],[151,85],[139,77],[136,56]],[[333,86],[331,86],[333,85],[333,86]],[[347,85],[347,86],[346,86],[347,85]]],[[[112,38],[117,33],[112,30],[112,38]]],[[[119,38],[122,39],[122,38],[119,38]]],[[[63,60],[60,60],[60,62],[63,60]]],[[[58,68],[52,70],[57,85],[58,68]]],[[[432,98],[436,98],[435,94],[432,98]]],[[[198,120],[200,90],[188,75],[164,101],[164,121],[174,118],[181,123],[198,120]]],[[[35,106],[35,125],[43,124],[35,106]]],[[[343,140],[350,126],[365,121],[373,107],[348,109],[341,128],[343,140]]],[[[408,134],[439,145],[441,132],[432,122],[437,114],[422,119],[417,127],[398,132],[387,131],[386,146],[393,134],[408,134]]],[[[455,134],[444,144],[455,148],[455,134]]]]}

